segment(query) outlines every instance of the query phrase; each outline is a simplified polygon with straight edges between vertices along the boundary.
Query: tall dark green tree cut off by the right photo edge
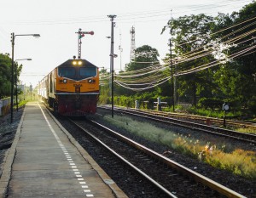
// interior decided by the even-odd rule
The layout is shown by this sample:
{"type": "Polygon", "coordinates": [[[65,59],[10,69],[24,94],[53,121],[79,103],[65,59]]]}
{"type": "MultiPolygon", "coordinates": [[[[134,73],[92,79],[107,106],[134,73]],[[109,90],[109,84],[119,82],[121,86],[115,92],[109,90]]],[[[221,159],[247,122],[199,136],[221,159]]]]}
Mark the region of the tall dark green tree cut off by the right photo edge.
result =
{"type": "MultiPolygon", "coordinates": [[[[215,30],[221,30],[226,26],[233,25],[226,31],[221,31],[215,37],[224,37],[224,41],[247,34],[237,42],[236,47],[230,48],[229,54],[240,53],[247,48],[256,45],[255,25],[256,3],[249,3],[239,12],[228,14],[218,14],[216,18],[215,30]]],[[[240,106],[256,109],[256,54],[255,48],[247,51],[236,59],[224,64],[214,75],[215,81],[228,99],[234,99],[240,106]],[[253,107],[254,106],[254,107],[253,107]]]]}

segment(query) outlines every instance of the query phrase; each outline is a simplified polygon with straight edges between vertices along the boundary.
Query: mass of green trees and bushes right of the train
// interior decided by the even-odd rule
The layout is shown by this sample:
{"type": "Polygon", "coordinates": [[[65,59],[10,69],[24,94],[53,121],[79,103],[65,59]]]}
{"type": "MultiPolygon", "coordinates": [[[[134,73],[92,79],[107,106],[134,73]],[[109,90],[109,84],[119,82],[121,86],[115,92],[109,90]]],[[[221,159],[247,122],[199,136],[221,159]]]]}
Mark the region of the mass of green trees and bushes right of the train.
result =
{"type": "MultiPolygon", "coordinates": [[[[196,108],[200,108],[202,112],[197,110],[197,113],[212,116],[216,114],[214,116],[219,116],[222,114],[222,104],[228,102],[231,107],[230,113],[233,113],[234,116],[241,114],[255,116],[256,55],[253,50],[248,51],[244,56],[236,59],[228,59],[229,61],[227,62],[221,62],[202,71],[185,72],[193,71],[195,68],[217,60],[216,56],[211,50],[208,50],[207,46],[212,46],[213,44],[218,46],[223,43],[229,43],[230,39],[234,39],[248,31],[253,31],[255,29],[255,25],[252,25],[255,23],[255,19],[253,18],[256,15],[255,10],[256,2],[253,2],[249,3],[239,12],[234,12],[230,15],[218,14],[215,18],[206,14],[185,15],[169,20],[163,28],[163,31],[170,32],[173,61],[179,61],[179,59],[176,59],[177,57],[184,57],[184,61],[182,60],[173,66],[173,74],[175,75],[173,79],[176,82],[176,101],[194,105],[195,108],[191,109],[190,112],[195,113],[196,108]],[[241,21],[246,22],[240,24],[241,21]],[[231,25],[233,27],[229,28],[231,25]],[[226,37],[227,35],[228,37],[226,37]],[[201,51],[209,53],[202,58],[192,59],[193,57],[189,57],[188,55],[192,50],[195,55],[200,55],[201,51]],[[191,60],[186,61],[186,59],[191,60]],[[183,72],[186,74],[181,75],[183,72]]],[[[255,39],[253,40],[253,37],[256,37],[255,32],[243,40],[239,40],[238,42],[241,43],[228,50],[222,50],[220,48],[214,50],[216,52],[221,51],[222,54],[228,57],[229,54],[240,53],[242,50],[255,45],[255,39]]],[[[137,56],[131,63],[126,65],[125,71],[141,70],[151,66],[151,62],[154,61],[159,63],[157,50],[148,45],[137,48],[136,53],[137,56]],[[150,54],[149,52],[154,53],[150,54]]],[[[171,76],[171,70],[168,66],[170,65],[170,54],[166,54],[166,58],[163,60],[166,64],[166,70],[160,72],[165,76],[171,76]]],[[[140,82],[141,79],[138,77],[136,80],[140,82]]],[[[108,86],[105,86],[105,88],[108,89],[108,86]]],[[[114,95],[115,97],[119,97],[119,99],[115,99],[117,105],[125,104],[124,106],[133,107],[134,101],[138,100],[140,107],[144,109],[153,108],[153,103],[157,97],[170,104],[173,91],[172,80],[161,84],[157,88],[150,88],[141,92],[135,92],[116,84],[114,85],[114,95]],[[122,95],[126,98],[123,98],[122,95]],[[148,101],[148,103],[144,101],[148,101]]],[[[105,99],[104,102],[106,103],[108,102],[108,94],[105,95],[102,98],[105,99]]],[[[166,110],[172,110],[172,108],[166,110]]]]}

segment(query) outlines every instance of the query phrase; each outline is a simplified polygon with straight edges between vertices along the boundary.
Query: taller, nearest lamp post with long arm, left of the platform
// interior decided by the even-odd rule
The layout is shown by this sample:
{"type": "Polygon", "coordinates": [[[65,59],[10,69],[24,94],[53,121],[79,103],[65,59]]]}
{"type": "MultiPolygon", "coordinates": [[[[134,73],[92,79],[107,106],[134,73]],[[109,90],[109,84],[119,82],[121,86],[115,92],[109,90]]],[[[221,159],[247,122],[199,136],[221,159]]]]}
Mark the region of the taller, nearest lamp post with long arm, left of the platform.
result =
{"type": "Polygon", "coordinates": [[[11,119],[10,122],[13,122],[13,107],[14,107],[14,67],[15,67],[15,37],[20,36],[32,36],[40,37],[39,34],[17,34],[11,33],[11,42],[12,42],[12,68],[11,68],[11,119]]]}

